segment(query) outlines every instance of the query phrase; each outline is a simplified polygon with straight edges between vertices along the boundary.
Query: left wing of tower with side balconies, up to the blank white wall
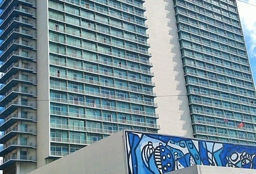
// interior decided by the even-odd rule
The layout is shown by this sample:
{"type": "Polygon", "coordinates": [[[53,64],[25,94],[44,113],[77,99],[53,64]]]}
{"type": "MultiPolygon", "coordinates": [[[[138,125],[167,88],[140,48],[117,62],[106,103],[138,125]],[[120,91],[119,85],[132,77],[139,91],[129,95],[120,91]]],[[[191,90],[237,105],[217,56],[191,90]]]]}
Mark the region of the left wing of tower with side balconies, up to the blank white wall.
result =
{"type": "Polygon", "coordinates": [[[3,173],[157,132],[144,1],[1,1],[3,173]]]}

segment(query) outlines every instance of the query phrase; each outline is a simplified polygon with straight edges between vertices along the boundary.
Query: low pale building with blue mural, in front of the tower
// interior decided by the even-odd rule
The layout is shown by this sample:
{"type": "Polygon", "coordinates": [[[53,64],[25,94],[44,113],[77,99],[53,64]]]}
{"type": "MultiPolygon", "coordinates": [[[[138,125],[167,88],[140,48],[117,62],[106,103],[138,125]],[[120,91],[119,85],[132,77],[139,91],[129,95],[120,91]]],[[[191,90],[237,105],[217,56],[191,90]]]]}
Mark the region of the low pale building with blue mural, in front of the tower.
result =
{"type": "Polygon", "coordinates": [[[255,168],[255,146],[122,131],[29,174],[256,174],[255,168]]]}

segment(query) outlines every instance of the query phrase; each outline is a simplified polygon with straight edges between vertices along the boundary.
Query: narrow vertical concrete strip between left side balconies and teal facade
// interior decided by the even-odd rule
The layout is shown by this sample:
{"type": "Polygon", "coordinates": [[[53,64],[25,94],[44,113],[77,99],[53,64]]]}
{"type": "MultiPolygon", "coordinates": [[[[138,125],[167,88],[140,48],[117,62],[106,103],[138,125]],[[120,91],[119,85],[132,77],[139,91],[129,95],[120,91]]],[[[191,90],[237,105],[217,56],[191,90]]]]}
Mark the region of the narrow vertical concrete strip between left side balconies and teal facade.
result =
{"type": "Polygon", "coordinates": [[[49,156],[49,38],[47,0],[36,1],[37,14],[37,168],[46,164],[49,156]],[[40,66],[38,66],[40,65],[40,66]]]}

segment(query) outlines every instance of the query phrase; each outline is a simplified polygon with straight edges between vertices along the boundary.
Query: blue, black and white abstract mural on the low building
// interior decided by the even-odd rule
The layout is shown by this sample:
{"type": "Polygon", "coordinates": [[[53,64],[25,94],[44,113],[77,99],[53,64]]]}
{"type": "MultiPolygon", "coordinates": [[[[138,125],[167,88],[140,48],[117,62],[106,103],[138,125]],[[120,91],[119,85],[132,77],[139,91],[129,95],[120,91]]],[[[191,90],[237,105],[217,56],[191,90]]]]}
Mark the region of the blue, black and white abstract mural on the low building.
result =
{"type": "Polygon", "coordinates": [[[125,131],[132,174],[168,173],[196,164],[256,169],[256,147],[125,131]]]}

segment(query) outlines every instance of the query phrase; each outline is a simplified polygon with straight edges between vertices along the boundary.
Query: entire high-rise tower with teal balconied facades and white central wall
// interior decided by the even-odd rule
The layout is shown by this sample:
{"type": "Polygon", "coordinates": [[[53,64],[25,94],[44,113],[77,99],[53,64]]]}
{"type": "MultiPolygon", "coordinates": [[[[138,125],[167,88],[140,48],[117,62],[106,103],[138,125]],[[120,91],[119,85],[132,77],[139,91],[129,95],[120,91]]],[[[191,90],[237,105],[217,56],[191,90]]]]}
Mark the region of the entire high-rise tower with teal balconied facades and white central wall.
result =
{"type": "Polygon", "coordinates": [[[3,0],[0,9],[3,173],[122,129],[255,145],[236,1],[3,0]]]}

